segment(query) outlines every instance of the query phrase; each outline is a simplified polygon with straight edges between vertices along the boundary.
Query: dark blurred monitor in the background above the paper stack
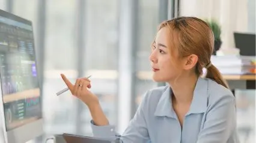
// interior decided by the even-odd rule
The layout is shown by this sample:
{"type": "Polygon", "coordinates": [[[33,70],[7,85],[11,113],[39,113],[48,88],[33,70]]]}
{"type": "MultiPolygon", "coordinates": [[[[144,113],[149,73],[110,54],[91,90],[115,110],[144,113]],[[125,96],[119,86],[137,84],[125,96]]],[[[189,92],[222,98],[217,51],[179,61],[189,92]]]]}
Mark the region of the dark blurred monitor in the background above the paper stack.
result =
{"type": "Polygon", "coordinates": [[[255,56],[255,34],[234,32],[236,47],[242,56],[255,56]]]}

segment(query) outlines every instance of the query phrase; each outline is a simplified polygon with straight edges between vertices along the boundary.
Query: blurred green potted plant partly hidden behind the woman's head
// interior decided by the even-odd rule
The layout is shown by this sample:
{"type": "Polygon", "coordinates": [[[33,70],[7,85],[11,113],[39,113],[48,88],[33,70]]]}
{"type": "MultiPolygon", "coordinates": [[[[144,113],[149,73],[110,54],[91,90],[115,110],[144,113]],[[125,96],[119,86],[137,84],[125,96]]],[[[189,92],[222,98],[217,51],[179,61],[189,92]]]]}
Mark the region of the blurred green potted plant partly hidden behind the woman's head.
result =
{"type": "Polygon", "coordinates": [[[208,25],[210,26],[210,28],[213,31],[213,35],[215,38],[213,55],[216,55],[216,52],[219,50],[219,48],[221,47],[221,44],[222,44],[221,26],[219,25],[219,23],[216,20],[210,20],[210,21],[206,20],[206,22],[208,23],[208,25]]]}

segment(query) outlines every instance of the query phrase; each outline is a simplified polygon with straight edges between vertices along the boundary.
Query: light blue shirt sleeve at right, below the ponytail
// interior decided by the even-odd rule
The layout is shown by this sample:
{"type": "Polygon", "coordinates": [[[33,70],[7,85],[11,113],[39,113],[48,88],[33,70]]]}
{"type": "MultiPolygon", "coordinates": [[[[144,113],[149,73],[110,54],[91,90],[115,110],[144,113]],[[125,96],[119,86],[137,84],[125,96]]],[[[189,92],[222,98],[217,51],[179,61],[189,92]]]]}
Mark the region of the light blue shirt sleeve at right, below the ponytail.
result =
{"type": "MultiPolygon", "coordinates": [[[[224,143],[236,130],[236,102],[234,96],[224,96],[212,105],[206,115],[197,143],[224,143]]],[[[234,143],[238,142],[236,139],[234,143]]]]}

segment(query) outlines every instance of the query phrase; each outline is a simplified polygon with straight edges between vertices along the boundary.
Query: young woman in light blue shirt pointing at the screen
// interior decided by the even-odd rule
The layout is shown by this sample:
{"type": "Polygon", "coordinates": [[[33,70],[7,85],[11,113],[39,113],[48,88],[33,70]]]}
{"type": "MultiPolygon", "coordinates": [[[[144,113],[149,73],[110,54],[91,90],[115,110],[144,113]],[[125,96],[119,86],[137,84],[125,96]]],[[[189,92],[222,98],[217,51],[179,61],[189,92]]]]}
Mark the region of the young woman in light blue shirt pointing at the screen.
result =
{"type": "Polygon", "coordinates": [[[235,99],[218,69],[210,62],[214,37],[209,25],[196,17],[178,17],[160,24],[152,44],[153,80],[168,86],[147,91],[122,136],[109,125],[90,80],[72,85],[73,95],[90,109],[94,136],[123,142],[239,142],[235,99]],[[203,67],[206,78],[201,78],[203,67]]]}

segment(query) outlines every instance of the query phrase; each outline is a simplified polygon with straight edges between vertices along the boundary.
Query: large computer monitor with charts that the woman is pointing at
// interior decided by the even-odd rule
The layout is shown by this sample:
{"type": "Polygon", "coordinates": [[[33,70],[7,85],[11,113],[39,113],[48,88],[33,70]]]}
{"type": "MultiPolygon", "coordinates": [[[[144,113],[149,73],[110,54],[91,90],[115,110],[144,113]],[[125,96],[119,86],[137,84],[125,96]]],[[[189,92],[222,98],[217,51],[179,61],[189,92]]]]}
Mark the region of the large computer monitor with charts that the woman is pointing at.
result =
{"type": "Polygon", "coordinates": [[[32,22],[0,10],[0,109],[5,142],[43,133],[32,22]]]}

